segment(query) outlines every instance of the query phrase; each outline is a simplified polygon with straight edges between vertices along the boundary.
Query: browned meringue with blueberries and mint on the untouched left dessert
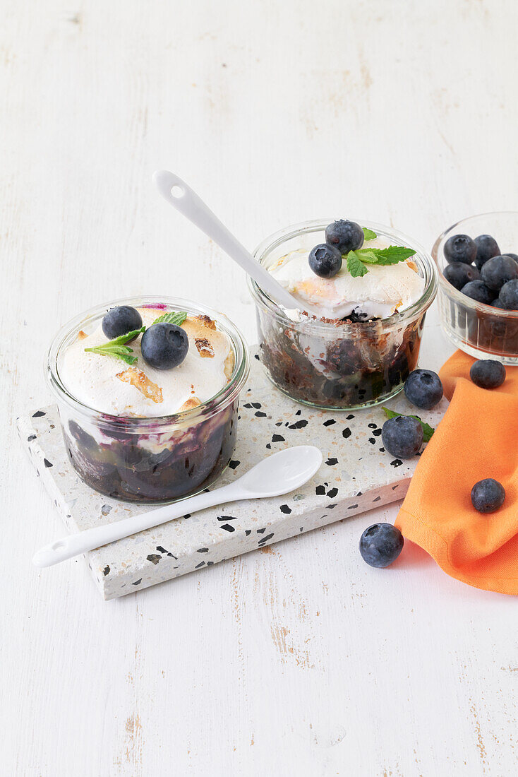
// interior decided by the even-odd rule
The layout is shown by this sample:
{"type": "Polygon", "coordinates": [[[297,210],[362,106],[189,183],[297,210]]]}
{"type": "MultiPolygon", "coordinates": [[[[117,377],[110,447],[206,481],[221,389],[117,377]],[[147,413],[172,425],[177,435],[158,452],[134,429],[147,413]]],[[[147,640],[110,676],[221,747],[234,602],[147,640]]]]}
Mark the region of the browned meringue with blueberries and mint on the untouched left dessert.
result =
{"type": "MultiPolygon", "coordinates": [[[[64,350],[59,372],[75,399],[99,413],[159,417],[199,406],[227,385],[234,351],[209,316],[129,309],[140,319],[136,332],[106,340],[105,316],[92,332],[79,331],[64,350]]],[[[131,326],[136,322],[131,319],[131,326]]]]}

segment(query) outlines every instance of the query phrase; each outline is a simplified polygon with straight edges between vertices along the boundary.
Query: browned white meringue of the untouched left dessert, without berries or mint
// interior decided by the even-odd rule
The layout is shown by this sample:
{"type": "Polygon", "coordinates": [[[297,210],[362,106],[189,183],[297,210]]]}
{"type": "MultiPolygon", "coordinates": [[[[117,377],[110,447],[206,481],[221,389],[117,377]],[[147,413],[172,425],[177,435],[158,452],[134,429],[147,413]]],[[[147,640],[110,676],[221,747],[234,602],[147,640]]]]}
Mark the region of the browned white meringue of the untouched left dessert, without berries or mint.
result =
{"type": "MultiPolygon", "coordinates": [[[[144,326],[162,315],[162,308],[137,308],[144,326]]],[[[78,332],[61,355],[58,370],[65,388],[79,402],[99,413],[140,418],[169,416],[213,397],[231,378],[234,351],[228,336],[206,315],[188,315],[182,324],[189,350],[178,367],[156,370],[141,354],[141,335],[128,343],[137,362],[85,351],[107,342],[101,322],[92,333],[78,332]]]]}

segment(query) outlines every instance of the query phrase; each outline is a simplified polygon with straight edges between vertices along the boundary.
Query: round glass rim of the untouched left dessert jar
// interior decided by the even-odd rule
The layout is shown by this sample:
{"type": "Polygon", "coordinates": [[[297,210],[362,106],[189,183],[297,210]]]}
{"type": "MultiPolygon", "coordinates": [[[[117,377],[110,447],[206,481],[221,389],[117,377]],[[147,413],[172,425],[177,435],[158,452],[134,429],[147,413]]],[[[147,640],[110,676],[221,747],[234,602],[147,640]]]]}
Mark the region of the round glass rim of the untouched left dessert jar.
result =
{"type": "Polygon", "coordinates": [[[75,410],[75,412],[82,413],[83,416],[89,416],[90,418],[95,419],[96,423],[101,426],[106,425],[106,427],[112,427],[113,425],[124,424],[141,433],[151,430],[156,431],[158,425],[163,425],[165,423],[170,423],[172,425],[181,423],[182,426],[184,426],[191,423],[197,423],[200,420],[208,420],[228,407],[228,405],[238,397],[249,376],[249,371],[249,348],[245,342],[245,338],[238,327],[235,326],[226,315],[217,312],[213,308],[209,308],[207,305],[198,305],[196,302],[179,297],[165,297],[162,294],[115,299],[105,302],[103,305],[96,305],[94,308],[89,308],[89,310],[76,315],[73,319],[70,319],[64,324],[54,336],[54,339],[47,350],[47,357],[45,360],[45,378],[47,380],[47,385],[49,385],[50,390],[59,401],[65,402],[71,409],[75,410]],[[85,323],[99,318],[101,313],[106,312],[106,310],[113,308],[116,305],[131,305],[132,307],[147,305],[148,307],[151,307],[153,304],[167,305],[171,310],[186,310],[186,312],[193,315],[210,316],[210,319],[216,322],[217,327],[231,340],[235,354],[235,364],[230,380],[219,392],[210,397],[210,399],[207,399],[206,402],[202,402],[201,405],[165,416],[116,416],[110,413],[103,413],[99,409],[86,405],[84,402],[80,402],[76,399],[65,387],[64,382],[61,381],[57,368],[57,360],[64,343],[66,343],[73,333],[81,329],[85,323]]]}

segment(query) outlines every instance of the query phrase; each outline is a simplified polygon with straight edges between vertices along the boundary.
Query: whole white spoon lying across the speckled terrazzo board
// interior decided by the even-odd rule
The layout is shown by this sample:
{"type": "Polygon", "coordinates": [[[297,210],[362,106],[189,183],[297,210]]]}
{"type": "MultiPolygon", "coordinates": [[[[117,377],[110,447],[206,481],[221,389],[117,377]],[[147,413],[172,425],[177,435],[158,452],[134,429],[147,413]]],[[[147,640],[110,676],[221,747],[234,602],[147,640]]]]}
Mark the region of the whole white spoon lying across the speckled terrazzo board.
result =
{"type": "Polygon", "coordinates": [[[216,504],[236,502],[241,499],[263,499],[264,497],[278,497],[281,493],[288,493],[304,486],[322,464],[322,453],[313,445],[298,445],[295,448],[286,448],[284,451],[267,456],[227,486],[221,486],[214,491],[199,493],[196,497],[190,497],[182,502],[166,504],[157,510],[148,513],[124,518],[123,521],[114,521],[111,524],[96,526],[96,528],[80,531],[76,535],[68,535],[50,542],[41,548],[33,558],[35,566],[52,566],[79,553],[100,548],[116,539],[129,537],[159,524],[172,521],[187,513],[196,513],[206,507],[214,507],[216,504]]]}

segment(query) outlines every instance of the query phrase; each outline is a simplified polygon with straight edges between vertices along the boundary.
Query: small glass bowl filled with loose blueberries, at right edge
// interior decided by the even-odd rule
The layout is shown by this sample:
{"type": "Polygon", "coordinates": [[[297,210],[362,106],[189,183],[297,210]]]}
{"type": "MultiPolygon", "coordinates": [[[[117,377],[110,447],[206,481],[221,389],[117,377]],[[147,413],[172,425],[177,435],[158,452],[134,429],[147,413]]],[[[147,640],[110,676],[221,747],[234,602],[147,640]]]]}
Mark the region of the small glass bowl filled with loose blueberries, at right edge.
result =
{"type": "Polygon", "coordinates": [[[432,256],[439,270],[439,309],[444,332],[477,359],[494,356],[518,364],[518,212],[480,214],[458,221],[440,235],[432,256]],[[468,235],[477,255],[464,269],[453,267],[447,249],[455,235],[468,235]],[[461,280],[474,274],[464,287],[461,280]],[[465,291],[466,293],[463,293],[465,291]]]}

